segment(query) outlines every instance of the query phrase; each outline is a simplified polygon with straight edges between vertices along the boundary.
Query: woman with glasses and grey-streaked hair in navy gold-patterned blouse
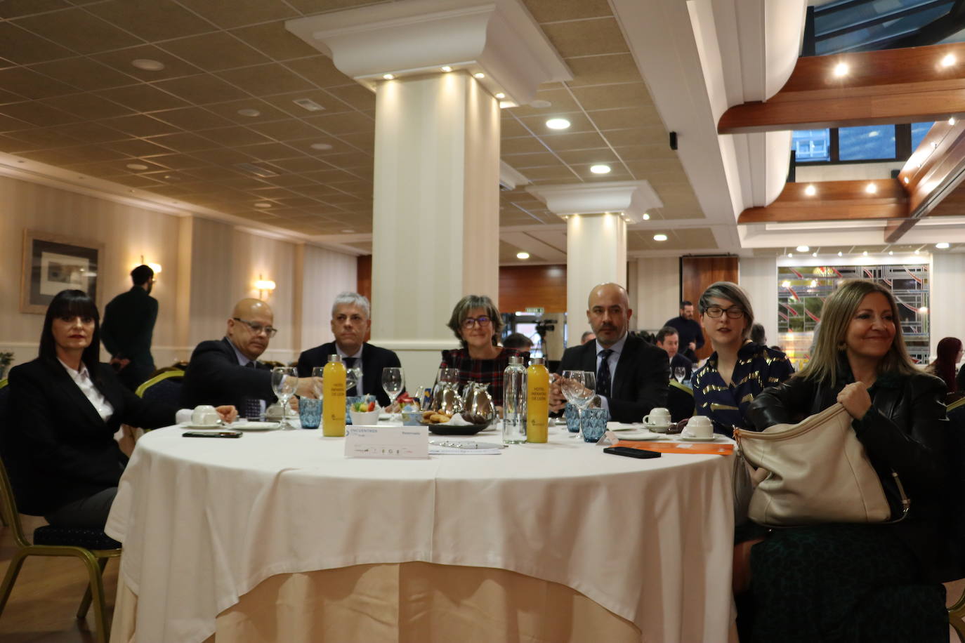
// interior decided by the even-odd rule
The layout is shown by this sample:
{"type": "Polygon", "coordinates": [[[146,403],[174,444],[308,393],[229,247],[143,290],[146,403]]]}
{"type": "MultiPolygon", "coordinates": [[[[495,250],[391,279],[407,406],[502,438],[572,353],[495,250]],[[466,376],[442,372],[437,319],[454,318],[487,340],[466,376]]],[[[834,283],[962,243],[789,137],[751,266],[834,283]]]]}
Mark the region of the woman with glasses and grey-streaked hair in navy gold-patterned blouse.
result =
{"type": "Polygon", "coordinates": [[[794,367],[781,351],[748,338],[754,308],[736,283],[717,281],[698,302],[703,332],[714,352],[696,373],[694,413],[706,415],[714,433],[733,437],[733,429],[750,426],[747,408],[764,388],[784,382],[794,367]]]}

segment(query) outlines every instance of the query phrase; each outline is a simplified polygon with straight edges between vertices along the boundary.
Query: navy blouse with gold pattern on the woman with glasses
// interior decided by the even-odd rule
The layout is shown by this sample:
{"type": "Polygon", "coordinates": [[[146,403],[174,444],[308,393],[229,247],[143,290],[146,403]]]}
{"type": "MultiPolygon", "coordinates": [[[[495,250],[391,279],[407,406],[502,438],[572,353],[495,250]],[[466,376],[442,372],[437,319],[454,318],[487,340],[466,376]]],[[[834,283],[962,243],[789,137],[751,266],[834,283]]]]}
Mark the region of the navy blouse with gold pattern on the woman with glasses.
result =
{"type": "Polygon", "coordinates": [[[794,367],[781,351],[748,342],[737,351],[731,386],[717,372],[717,353],[691,378],[694,387],[694,415],[706,415],[714,425],[714,433],[733,437],[733,427],[753,429],[747,419],[747,407],[764,388],[784,382],[794,367]]]}

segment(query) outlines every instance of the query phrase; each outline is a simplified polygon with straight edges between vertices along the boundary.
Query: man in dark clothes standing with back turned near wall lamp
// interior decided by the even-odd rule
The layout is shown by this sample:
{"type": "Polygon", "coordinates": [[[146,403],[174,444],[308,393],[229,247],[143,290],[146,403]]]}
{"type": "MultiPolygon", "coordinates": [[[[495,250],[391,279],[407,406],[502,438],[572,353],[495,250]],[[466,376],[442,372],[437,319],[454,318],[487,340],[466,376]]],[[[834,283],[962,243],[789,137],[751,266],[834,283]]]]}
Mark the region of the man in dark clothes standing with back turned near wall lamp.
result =
{"type": "Polygon", "coordinates": [[[138,266],[130,271],[133,285],[104,308],[100,337],[111,354],[111,365],[125,387],[134,390],[151,377],[154,359],[151,337],[157,320],[157,300],[151,296],[154,271],[138,266]]]}

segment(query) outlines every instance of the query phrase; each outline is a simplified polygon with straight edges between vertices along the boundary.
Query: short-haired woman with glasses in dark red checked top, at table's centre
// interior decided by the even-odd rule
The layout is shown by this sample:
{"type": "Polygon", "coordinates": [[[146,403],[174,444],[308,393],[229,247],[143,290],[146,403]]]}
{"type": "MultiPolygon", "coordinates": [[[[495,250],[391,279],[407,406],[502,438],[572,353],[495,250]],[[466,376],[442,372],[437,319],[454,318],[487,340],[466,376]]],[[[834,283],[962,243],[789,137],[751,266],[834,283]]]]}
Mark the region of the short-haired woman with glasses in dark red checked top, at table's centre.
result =
{"type": "Polygon", "coordinates": [[[496,343],[503,330],[503,316],[485,295],[460,299],[448,326],[462,348],[443,351],[439,367],[457,368],[459,386],[467,382],[488,384],[493,404],[503,406],[503,371],[510,365],[510,357],[520,356],[525,362],[530,354],[496,343]]]}

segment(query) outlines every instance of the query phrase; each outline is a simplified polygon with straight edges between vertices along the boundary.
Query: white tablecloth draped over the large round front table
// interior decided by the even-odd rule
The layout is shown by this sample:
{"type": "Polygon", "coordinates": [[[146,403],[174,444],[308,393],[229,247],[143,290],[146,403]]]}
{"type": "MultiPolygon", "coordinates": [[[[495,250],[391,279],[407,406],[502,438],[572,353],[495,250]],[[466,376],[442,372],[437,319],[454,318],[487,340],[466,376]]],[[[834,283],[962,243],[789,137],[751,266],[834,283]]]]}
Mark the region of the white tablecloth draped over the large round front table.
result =
{"type": "Polygon", "coordinates": [[[152,641],[204,640],[269,576],[406,561],[564,584],[645,641],[728,637],[731,458],[618,457],[559,429],[416,461],[345,459],[318,431],[180,434],[138,442],[106,527],[152,641]]]}

